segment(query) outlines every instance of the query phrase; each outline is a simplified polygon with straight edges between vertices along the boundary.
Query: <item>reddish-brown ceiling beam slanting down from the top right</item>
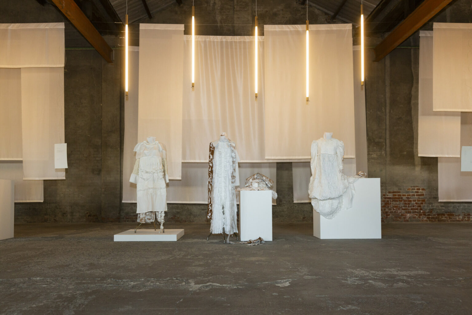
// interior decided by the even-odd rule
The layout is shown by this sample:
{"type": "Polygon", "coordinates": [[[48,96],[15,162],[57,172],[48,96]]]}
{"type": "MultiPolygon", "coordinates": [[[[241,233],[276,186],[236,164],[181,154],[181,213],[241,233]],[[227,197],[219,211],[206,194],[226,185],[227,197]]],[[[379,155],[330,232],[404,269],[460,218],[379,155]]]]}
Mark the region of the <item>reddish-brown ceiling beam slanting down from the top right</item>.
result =
{"type": "Polygon", "coordinates": [[[446,7],[452,0],[424,0],[408,17],[405,18],[382,42],[374,48],[375,59],[380,61],[403,43],[421,26],[446,7]]]}

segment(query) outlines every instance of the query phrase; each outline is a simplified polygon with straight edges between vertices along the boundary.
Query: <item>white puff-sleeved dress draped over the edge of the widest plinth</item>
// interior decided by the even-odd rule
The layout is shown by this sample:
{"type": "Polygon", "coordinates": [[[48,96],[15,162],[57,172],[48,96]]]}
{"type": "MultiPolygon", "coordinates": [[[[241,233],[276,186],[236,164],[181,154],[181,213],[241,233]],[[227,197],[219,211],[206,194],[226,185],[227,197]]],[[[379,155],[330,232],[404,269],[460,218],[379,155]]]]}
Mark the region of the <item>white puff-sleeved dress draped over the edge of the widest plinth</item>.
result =
{"type": "Polygon", "coordinates": [[[313,209],[327,219],[334,218],[341,209],[351,207],[353,187],[349,186],[356,179],[343,174],[343,155],[344,144],[338,139],[324,136],[312,142],[312,177],[308,193],[313,209]]]}

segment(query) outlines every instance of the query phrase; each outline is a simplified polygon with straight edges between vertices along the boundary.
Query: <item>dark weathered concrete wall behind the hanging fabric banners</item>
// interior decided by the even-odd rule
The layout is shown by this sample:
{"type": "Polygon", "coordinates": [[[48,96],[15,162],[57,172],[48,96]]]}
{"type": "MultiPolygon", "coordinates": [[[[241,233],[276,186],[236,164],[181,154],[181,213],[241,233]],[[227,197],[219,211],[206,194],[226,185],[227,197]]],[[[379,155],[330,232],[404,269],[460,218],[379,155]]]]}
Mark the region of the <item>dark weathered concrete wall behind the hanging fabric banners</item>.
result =
{"type": "MultiPolygon", "coordinates": [[[[200,2],[195,9],[197,23],[202,24],[198,27],[198,34],[251,35],[254,4],[255,1],[249,0],[200,2]]],[[[467,0],[454,1],[436,20],[468,23],[471,20],[469,5],[467,0]]],[[[182,6],[171,5],[155,13],[152,21],[143,19],[138,22],[185,24],[189,22],[190,12],[191,1],[184,1],[182,6]]],[[[303,24],[306,12],[295,0],[260,1],[258,16],[259,25],[303,24]]],[[[314,8],[310,8],[309,19],[312,24],[340,23],[331,21],[329,16],[314,8]]],[[[51,5],[42,7],[35,0],[7,1],[0,11],[0,21],[67,22],[56,8],[51,5]]],[[[188,29],[186,25],[186,34],[188,29]]],[[[431,29],[431,25],[426,25],[425,29],[431,29]]],[[[137,24],[130,26],[130,31],[137,32],[137,24]]],[[[263,34],[263,30],[261,32],[263,34]]],[[[138,33],[131,34],[135,37],[134,44],[137,44],[138,33]]],[[[118,46],[121,43],[119,35],[106,39],[111,46],[118,46]]],[[[372,38],[368,43],[378,41],[378,38],[372,38]]],[[[415,34],[404,45],[418,46],[418,43],[418,34],[415,34]]],[[[87,45],[73,26],[66,23],[66,47],[87,45]]],[[[121,203],[124,133],[121,52],[115,50],[116,62],[107,64],[94,50],[66,51],[65,132],[69,161],[66,180],[45,181],[43,203],[16,204],[16,222],[134,219],[135,204],[121,203]]],[[[372,51],[367,53],[366,60],[372,60],[372,51]]],[[[396,49],[380,62],[366,65],[369,175],[381,179],[383,220],[470,220],[471,203],[438,203],[438,160],[419,158],[416,153],[418,61],[417,48],[396,49]],[[403,196],[411,192],[411,187],[415,188],[415,195],[416,188],[420,188],[419,195],[424,196],[416,199],[403,196]],[[398,194],[401,196],[394,196],[398,194]],[[397,198],[395,203],[398,204],[394,207],[386,204],[390,197],[397,198]],[[417,201],[412,200],[421,201],[416,206],[417,201]],[[407,213],[414,208],[419,213],[407,213]]],[[[310,204],[292,202],[291,163],[277,164],[277,188],[274,221],[312,221],[310,204]]],[[[206,221],[205,213],[206,205],[169,204],[166,220],[201,222],[206,221]]]]}

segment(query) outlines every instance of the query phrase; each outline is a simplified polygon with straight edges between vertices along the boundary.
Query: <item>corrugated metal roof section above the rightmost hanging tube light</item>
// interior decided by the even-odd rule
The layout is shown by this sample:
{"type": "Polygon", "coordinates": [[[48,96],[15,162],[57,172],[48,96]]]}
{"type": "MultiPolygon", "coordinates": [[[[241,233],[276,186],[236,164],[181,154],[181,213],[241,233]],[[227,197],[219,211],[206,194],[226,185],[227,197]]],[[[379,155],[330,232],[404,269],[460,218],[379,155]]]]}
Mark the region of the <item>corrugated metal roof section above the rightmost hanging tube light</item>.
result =
{"type": "MultiPolygon", "coordinates": [[[[362,0],[364,6],[364,18],[367,17],[372,10],[379,4],[380,0],[362,0]]],[[[314,6],[315,8],[320,9],[333,15],[340,5],[342,5],[343,0],[312,0],[308,1],[308,4],[314,6]]],[[[336,16],[337,19],[352,23],[355,26],[358,26],[361,19],[361,0],[346,0],[346,3],[342,6],[341,10],[336,16]]]]}

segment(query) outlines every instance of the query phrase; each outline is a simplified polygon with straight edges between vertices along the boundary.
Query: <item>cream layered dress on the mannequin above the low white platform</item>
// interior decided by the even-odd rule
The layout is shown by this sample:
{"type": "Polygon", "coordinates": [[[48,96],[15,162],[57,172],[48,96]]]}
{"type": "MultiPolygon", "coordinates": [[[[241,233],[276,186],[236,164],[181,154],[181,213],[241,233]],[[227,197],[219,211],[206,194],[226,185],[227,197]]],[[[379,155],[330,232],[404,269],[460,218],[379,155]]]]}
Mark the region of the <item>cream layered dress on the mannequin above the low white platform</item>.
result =
{"type": "Polygon", "coordinates": [[[155,137],[148,137],[134,151],[136,162],[129,181],[136,183],[137,221],[153,222],[156,218],[161,221],[167,211],[166,183],[169,182],[166,147],[155,137]]]}

